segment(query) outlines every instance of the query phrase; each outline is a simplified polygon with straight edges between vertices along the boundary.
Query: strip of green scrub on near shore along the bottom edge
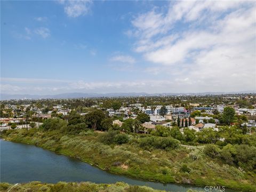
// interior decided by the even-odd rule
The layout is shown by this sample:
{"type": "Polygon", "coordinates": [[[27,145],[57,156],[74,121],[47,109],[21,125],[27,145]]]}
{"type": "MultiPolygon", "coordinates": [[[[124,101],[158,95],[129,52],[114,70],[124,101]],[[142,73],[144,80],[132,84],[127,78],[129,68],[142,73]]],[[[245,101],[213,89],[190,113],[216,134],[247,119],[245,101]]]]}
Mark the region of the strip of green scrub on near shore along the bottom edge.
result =
{"type": "MultiPolygon", "coordinates": [[[[0,190],[7,192],[13,185],[10,183],[0,183],[0,190]]],[[[86,191],[86,192],[109,192],[109,191],[124,191],[124,192],[157,192],[146,186],[130,186],[124,182],[116,182],[115,184],[96,184],[91,182],[58,182],[56,184],[41,183],[33,181],[29,183],[22,183],[14,186],[11,191],[15,192],[72,192],[72,191],[86,191]]]]}

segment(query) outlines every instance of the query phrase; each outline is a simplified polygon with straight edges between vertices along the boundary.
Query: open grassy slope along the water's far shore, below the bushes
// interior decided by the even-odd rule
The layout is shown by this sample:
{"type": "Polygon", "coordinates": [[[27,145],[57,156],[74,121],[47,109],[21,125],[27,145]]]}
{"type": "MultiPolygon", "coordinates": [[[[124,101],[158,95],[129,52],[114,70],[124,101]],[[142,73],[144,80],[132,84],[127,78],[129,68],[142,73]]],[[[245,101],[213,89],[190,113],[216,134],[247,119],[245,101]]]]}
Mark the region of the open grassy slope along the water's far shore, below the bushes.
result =
{"type": "Polygon", "coordinates": [[[10,130],[1,137],[76,157],[102,170],[134,178],[256,191],[254,173],[210,158],[203,153],[203,146],[146,150],[137,143],[140,135],[129,135],[130,141],[122,145],[106,145],[100,139],[103,134],[106,133],[92,130],[71,135],[30,129],[10,130]]]}

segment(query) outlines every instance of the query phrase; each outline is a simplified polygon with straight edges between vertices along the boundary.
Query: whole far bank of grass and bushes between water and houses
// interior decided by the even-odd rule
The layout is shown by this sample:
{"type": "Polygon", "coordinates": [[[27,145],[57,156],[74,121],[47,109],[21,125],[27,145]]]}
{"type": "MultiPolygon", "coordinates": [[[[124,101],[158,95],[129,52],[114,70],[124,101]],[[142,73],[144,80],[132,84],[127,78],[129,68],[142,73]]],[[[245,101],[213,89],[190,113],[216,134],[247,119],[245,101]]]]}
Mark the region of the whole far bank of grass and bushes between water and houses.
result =
{"type": "MultiPolygon", "coordinates": [[[[54,126],[55,121],[60,122],[59,129],[53,129],[47,125],[48,121],[53,119],[47,120],[41,129],[7,130],[1,137],[76,157],[102,170],[134,178],[256,191],[255,139],[252,135],[244,135],[241,140],[233,140],[236,129],[233,133],[225,132],[233,136],[227,135],[229,140],[224,145],[216,142],[215,145],[187,148],[180,146],[177,138],[182,136],[191,140],[188,139],[191,133],[180,135],[178,127],[166,133],[166,137],[127,134],[111,129],[95,132],[87,128],[79,133],[67,133],[70,126],[67,123],[54,119],[54,126]],[[242,143],[238,144],[238,141],[242,143]]],[[[161,129],[158,131],[162,132],[161,129]]]]}

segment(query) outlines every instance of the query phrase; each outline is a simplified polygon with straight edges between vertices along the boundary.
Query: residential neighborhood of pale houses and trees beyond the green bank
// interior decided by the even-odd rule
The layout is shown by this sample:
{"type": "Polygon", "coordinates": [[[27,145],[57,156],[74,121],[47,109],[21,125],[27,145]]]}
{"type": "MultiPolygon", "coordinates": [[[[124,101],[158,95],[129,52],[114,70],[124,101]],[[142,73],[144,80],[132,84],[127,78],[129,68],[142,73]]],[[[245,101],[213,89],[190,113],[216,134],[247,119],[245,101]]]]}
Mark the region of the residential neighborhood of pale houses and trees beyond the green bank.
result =
{"type": "MultiPolygon", "coordinates": [[[[209,96],[205,96],[205,98],[208,97],[209,96]]],[[[219,97],[220,96],[218,96],[218,98],[219,97]]],[[[73,110],[76,110],[79,115],[85,116],[90,113],[90,111],[99,109],[106,111],[108,116],[113,119],[112,124],[118,125],[119,127],[122,127],[127,119],[138,119],[140,114],[145,114],[148,118],[146,122],[141,122],[140,133],[148,134],[151,131],[156,130],[157,126],[165,126],[168,127],[168,129],[172,129],[173,126],[178,126],[180,127],[180,132],[182,134],[185,128],[194,130],[195,132],[208,128],[218,131],[218,126],[223,125],[221,114],[225,107],[231,107],[235,111],[235,118],[240,120],[236,120],[236,123],[234,121],[230,122],[230,125],[239,123],[241,126],[246,126],[247,134],[250,134],[251,131],[254,130],[256,109],[255,103],[253,102],[255,102],[255,95],[252,94],[250,97],[247,95],[225,97],[225,95],[223,95],[223,101],[220,104],[217,103],[217,105],[214,103],[211,103],[210,105],[207,103],[207,105],[205,105],[206,103],[204,102],[189,102],[190,98],[191,97],[185,96],[165,98],[165,100],[179,99],[180,103],[175,105],[146,105],[145,98],[133,98],[132,100],[138,101],[143,99],[143,102],[135,102],[132,104],[129,104],[129,102],[122,102],[122,100],[129,101],[129,98],[119,98],[119,101],[116,101],[115,98],[50,100],[51,105],[46,104],[49,100],[44,100],[42,102],[44,103],[43,105],[38,105],[38,101],[36,100],[3,101],[1,105],[0,129],[11,129],[11,125],[13,125],[12,129],[15,129],[16,127],[27,127],[27,124],[29,128],[31,127],[29,126],[30,122],[35,123],[35,125],[31,124],[33,127],[38,127],[45,119],[68,118],[69,113],[73,110]],[[74,108],[74,101],[83,103],[83,100],[86,101],[86,103],[90,102],[86,104],[87,107],[77,106],[74,108]],[[227,100],[229,100],[229,103],[226,102],[227,100]],[[22,104],[22,102],[25,102],[26,104],[22,104]],[[107,104],[106,102],[110,103],[107,104]],[[250,106],[247,104],[247,108],[244,105],[240,107],[240,102],[252,102],[252,105],[250,106]]],[[[154,100],[155,98],[149,99],[154,100]]]]}

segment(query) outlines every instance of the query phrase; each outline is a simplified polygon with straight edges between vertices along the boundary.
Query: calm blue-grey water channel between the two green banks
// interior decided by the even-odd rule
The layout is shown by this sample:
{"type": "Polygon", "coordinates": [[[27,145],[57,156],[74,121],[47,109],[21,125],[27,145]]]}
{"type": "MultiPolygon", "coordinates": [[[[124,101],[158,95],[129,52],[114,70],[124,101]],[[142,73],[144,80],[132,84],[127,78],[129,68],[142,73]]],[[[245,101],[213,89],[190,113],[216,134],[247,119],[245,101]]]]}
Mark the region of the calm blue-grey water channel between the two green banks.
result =
{"type": "Polygon", "coordinates": [[[59,155],[33,145],[4,141],[2,139],[0,140],[0,145],[1,182],[42,181],[56,183],[58,181],[91,181],[95,183],[115,183],[123,181],[130,185],[144,185],[167,191],[187,191],[189,188],[204,190],[203,187],[163,184],[111,174],[75,158],[59,155]]]}

